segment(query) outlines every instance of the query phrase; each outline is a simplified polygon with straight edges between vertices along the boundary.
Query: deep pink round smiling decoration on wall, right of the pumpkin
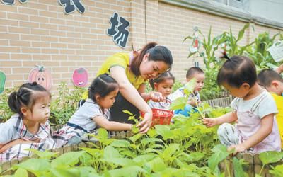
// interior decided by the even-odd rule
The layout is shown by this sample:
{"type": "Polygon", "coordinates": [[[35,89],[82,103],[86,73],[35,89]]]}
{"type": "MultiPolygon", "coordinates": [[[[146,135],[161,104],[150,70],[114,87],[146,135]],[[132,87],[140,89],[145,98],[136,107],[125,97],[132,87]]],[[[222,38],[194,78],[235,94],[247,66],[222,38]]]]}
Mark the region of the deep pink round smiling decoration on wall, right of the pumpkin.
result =
{"type": "Polygon", "coordinates": [[[72,78],[75,86],[85,87],[88,84],[88,72],[82,67],[74,70],[72,78]]]}

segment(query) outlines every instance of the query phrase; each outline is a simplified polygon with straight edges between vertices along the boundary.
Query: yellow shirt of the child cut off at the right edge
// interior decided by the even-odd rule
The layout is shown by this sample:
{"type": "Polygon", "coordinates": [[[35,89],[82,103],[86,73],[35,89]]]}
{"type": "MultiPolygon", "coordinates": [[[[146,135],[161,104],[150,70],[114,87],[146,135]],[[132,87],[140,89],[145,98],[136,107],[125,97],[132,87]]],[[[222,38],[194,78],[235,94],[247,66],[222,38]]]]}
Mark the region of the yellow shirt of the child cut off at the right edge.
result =
{"type": "Polygon", "coordinates": [[[281,149],[283,148],[283,96],[278,96],[275,93],[270,93],[275,99],[278,114],[276,115],[277,125],[281,137],[281,149]]]}

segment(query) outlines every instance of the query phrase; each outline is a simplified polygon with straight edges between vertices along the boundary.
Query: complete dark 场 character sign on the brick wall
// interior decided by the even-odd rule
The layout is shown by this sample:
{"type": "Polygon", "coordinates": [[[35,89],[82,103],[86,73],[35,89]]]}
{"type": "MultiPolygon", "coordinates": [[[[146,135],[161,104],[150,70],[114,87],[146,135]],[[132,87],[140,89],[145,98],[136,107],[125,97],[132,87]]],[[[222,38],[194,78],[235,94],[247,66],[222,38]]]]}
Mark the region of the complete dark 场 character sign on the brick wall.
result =
{"type": "Polygon", "coordinates": [[[111,27],[107,30],[107,34],[113,37],[114,42],[122,48],[125,48],[129,36],[129,21],[119,17],[114,13],[110,18],[111,27]]]}

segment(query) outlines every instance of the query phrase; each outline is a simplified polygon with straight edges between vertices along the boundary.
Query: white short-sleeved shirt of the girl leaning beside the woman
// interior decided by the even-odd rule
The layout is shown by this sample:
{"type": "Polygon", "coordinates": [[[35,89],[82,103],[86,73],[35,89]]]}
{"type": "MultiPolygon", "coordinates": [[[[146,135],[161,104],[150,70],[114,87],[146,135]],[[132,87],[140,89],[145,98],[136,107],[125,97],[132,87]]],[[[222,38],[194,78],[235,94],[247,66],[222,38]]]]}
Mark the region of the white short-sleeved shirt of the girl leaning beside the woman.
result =
{"type": "Polygon", "coordinates": [[[71,119],[68,122],[79,125],[88,132],[92,132],[93,130],[98,128],[96,122],[93,121],[93,118],[97,116],[103,116],[104,118],[109,120],[110,111],[108,109],[104,109],[103,113],[100,106],[88,98],[86,100],[86,103],[83,103],[81,108],[79,108],[79,110],[76,110],[76,112],[71,116],[71,119]]]}

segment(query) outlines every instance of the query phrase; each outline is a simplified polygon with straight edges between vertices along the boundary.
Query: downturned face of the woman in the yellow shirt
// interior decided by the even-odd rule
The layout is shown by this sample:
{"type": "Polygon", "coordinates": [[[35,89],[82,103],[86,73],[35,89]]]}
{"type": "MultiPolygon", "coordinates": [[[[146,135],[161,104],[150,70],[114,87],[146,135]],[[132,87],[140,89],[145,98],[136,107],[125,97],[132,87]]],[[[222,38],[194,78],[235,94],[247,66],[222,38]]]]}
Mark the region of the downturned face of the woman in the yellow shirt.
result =
{"type": "Polygon", "coordinates": [[[154,79],[161,73],[166,72],[168,64],[162,61],[152,61],[148,59],[149,54],[144,55],[144,59],[139,66],[139,72],[144,79],[154,79]]]}

